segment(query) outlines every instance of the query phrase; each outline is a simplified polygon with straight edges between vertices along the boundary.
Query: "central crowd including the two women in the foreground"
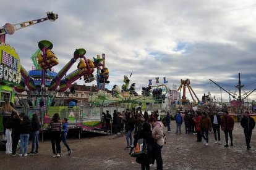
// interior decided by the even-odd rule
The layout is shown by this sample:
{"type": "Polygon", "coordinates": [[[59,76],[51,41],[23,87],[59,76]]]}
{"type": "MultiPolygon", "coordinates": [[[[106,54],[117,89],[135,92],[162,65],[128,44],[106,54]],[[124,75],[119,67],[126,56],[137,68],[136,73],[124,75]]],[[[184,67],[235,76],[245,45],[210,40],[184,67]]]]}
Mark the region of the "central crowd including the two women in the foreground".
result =
{"type": "MultiPolygon", "coordinates": [[[[163,169],[161,148],[164,145],[164,125],[160,121],[158,111],[153,111],[151,115],[148,115],[147,111],[142,114],[142,111],[126,110],[120,113],[114,110],[113,119],[108,110],[101,115],[102,128],[105,131],[112,131],[114,136],[126,133],[126,147],[124,149],[130,150],[130,153],[139,139],[145,139],[147,154],[136,158],[142,169],[150,169],[150,164],[154,164],[155,161],[156,168],[163,169]],[[111,122],[113,124],[110,127],[111,122]]],[[[170,127],[168,132],[171,132],[170,127]]]]}

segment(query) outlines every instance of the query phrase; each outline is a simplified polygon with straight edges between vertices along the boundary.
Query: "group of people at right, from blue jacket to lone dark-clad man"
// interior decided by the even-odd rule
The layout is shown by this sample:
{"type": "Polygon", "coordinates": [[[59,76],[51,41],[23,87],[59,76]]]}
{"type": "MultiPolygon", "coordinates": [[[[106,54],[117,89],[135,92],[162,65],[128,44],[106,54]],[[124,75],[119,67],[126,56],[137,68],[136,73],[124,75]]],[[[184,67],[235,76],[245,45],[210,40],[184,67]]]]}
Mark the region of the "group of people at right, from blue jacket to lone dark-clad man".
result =
{"type": "MultiPolygon", "coordinates": [[[[215,137],[215,144],[222,144],[220,138],[220,129],[225,135],[224,147],[233,146],[233,129],[234,119],[229,115],[229,112],[224,110],[223,115],[218,115],[216,110],[213,111],[185,111],[184,116],[181,112],[174,116],[176,120],[176,134],[181,134],[181,126],[184,122],[185,132],[189,134],[197,134],[197,142],[202,142],[206,146],[209,145],[208,133],[213,130],[215,137]],[[230,143],[229,143],[230,139],[230,143]]],[[[243,118],[241,119],[241,126],[244,128],[245,142],[247,149],[250,149],[250,139],[252,137],[252,129],[255,127],[254,118],[249,116],[249,112],[245,111],[243,118]]]]}

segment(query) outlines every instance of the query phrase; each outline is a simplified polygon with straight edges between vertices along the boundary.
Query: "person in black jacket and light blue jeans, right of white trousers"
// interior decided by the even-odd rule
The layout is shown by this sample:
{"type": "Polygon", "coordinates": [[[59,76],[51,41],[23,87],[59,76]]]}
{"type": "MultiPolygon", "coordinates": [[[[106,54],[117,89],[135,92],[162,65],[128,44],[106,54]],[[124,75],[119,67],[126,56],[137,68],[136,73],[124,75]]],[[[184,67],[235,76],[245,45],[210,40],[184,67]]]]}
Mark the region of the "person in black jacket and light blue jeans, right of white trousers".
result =
{"type": "Polygon", "coordinates": [[[20,122],[20,157],[27,156],[28,139],[31,132],[31,122],[27,115],[23,116],[20,122]],[[23,153],[24,148],[24,154],[23,153]]]}

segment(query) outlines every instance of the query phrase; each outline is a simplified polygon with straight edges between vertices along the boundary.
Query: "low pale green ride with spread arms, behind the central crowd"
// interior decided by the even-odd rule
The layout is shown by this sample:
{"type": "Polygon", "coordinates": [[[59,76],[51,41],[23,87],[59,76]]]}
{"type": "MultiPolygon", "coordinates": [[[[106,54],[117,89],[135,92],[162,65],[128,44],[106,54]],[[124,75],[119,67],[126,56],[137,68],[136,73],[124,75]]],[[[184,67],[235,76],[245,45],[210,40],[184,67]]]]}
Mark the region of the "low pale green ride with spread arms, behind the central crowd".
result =
{"type": "Polygon", "coordinates": [[[106,91],[99,91],[98,94],[89,97],[88,101],[93,105],[109,105],[119,103],[127,109],[135,109],[138,105],[142,105],[142,109],[146,109],[146,104],[163,103],[167,94],[167,87],[162,84],[158,86],[143,87],[142,95],[135,91],[135,83],[130,84],[130,77],[124,76],[124,84],[120,88],[114,85],[112,94],[106,91]]]}

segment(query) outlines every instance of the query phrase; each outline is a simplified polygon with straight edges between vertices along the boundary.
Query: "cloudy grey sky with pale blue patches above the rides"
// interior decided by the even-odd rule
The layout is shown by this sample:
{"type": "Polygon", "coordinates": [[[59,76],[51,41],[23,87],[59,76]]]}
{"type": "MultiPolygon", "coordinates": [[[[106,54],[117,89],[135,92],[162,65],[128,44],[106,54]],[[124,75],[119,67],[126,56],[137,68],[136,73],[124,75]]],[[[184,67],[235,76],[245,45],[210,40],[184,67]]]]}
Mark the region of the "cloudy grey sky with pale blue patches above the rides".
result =
{"type": "MultiPolygon", "coordinates": [[[[238,73],[242,94],[256,88],[255,1],[1,1],[0,25],[43,18],[47,11],[59,15],[55,22],[7,35],[26,70],[32,69],[37,42],[48,39],[59,57],[56,72],[77,48],[86,49],[87,59],[106,54],[108,89],[121,86],[123,76],[132,71],[130,82],[139,92],[148,79],[155,84],[156,77],[160,83],[166,77],[172,89],[189,78],[200,99],[210,91],[220,100],[220,88],[209,79],[236,92],[238,73]]],[[[228,100],[226,92],[223,100],[228,100]]]]}

